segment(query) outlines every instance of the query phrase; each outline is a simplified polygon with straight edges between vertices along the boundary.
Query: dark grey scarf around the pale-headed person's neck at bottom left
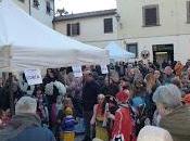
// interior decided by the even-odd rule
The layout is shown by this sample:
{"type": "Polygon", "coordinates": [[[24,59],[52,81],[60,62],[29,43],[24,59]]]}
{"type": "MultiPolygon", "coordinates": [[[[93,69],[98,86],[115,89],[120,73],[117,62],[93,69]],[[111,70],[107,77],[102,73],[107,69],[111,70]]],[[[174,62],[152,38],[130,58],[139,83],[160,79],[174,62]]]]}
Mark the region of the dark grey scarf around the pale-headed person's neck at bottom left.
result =
{"type": "Polygon", "coordinates": [[[13,116],[11,123],[2,130],[0,130],[1,141],[8,141],[15,138],[28,127],[40,127],[41,121],[37,115],[20,114],[13,116]]]}

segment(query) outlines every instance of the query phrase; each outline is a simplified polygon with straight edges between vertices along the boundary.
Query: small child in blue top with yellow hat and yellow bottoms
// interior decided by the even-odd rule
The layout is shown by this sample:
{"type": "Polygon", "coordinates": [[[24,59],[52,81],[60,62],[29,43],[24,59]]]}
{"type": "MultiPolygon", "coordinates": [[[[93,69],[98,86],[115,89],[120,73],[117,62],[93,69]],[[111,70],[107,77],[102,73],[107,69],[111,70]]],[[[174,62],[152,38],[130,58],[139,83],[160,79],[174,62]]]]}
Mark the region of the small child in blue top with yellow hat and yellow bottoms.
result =
{"type": "Polygon", "coordinates": [[[76,120],[73,117],[73,110],[71,107],[65,108],[65,118],[63,119],[61,124],[62,139],[64,141],[74,141],[75,140],[75,125],[76,120]]]}

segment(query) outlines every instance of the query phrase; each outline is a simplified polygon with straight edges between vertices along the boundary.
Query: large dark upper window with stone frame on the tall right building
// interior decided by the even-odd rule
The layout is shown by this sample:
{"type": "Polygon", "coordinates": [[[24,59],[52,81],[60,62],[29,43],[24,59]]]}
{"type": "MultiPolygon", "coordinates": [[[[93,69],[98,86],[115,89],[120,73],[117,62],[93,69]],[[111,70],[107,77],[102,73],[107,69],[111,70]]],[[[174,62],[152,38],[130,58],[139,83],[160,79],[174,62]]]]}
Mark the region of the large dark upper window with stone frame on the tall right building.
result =
{"type": "Polygon", "coordinates": [[[142,9],[143,26],[160,25],[159,5],[145,5],[142,9]]]}

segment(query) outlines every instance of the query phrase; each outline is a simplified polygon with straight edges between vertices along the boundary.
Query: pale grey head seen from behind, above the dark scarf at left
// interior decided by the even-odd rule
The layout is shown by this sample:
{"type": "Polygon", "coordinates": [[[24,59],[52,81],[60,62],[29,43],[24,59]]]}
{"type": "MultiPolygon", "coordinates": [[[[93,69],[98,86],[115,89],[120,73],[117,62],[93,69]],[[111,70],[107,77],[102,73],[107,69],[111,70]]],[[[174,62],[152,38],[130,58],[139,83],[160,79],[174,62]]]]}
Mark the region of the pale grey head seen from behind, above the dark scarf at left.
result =
{"type": "Polygon", "coordinates": [[[15,105],[15,114],[36,114],[37,101],[30,97],[21,98],[15,105]]]}

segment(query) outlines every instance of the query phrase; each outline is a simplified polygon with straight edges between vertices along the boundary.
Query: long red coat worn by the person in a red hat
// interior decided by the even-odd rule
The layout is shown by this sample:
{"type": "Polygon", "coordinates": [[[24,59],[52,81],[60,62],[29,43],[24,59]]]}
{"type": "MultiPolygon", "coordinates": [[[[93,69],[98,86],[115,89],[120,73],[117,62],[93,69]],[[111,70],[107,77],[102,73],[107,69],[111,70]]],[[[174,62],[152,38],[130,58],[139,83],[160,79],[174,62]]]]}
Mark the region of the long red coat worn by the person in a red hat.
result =
{"type": "Polygon", "coordinates": [[[112,138],[121,133],[124,136],[125,141],[136,141],[135,123],[130,116],[130,110],[128,107],[122,107],[115,113],[112,138]]]}

